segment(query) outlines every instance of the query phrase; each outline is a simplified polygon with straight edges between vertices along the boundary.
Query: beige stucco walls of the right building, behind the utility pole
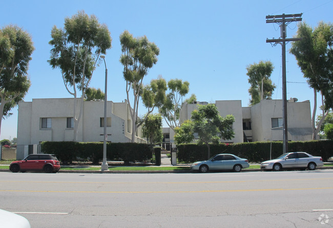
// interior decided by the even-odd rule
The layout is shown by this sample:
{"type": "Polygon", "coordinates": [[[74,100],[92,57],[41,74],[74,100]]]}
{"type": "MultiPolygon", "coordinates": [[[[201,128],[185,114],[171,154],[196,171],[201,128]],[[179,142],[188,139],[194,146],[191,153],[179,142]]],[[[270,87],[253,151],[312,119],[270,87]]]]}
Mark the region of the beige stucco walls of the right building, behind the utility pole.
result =
{"type": "MultiPolygon", "coordinates": [[[[288,101],[288,140],[311,140],[310,102],[288,101]]],[[[216,101],[220,116],[233,115],[235,138],[230,142],[243,142],[243,133],[253,142],[282,141],[283,128],[272,129],[272,118],[282,118],[282,100],[263,100],[251,107],[241,107],[241,101],[216,101]],[[251,122],[251,130],[243,130],[243,120],[251,122]]],[[[197,104],[184,104],[180,110],[180,123],[191,119],[197,104]]]]}

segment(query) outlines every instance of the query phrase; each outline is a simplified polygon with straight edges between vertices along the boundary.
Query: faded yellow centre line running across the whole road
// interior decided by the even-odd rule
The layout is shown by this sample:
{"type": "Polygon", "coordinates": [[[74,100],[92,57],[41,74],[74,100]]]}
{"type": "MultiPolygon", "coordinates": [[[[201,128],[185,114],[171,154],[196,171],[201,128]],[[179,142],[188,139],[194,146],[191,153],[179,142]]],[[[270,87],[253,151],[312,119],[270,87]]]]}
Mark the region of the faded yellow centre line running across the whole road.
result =
{"type": "Polygon", "coordinates": [[[300,191],[325,190],[327,188],[300,188],[300,189],[235,189],[235,190],[200,190],[200,191],[43,191],[43,190],[0,190],[0,192],[50,192],[50,193],[214,193],[214,192],[268,192],[268,191],[300,191]]]}

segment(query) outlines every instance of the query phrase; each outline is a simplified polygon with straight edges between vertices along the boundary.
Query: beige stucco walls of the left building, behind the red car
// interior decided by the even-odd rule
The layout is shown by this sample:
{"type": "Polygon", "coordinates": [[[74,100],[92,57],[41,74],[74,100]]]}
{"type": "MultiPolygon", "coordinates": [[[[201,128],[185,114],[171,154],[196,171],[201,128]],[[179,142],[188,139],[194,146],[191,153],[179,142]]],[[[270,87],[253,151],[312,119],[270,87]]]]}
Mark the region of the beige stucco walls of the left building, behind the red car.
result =
{"type": "MultiPolygon", "coordinates": [[[[33,99],[32,102],[18,104],[17,144],[38,144],[41,141],[73,141],[73,128],[67,128],[67,118],[73,117],[73,98],[33,99]],[[42,129],[41,118],[52,118],[52,128],[42,129]]],[[[126,102],[107,102],[107,117],[111,117],[111,127],[107,127],[109,142],[131,142],[131,133],[127,131],[130,118],[126,102]],[[116,112],[115,113],[113,113],[116,112]]],[[[79,102],[77,104],[79,111],[79,102]]],[[[78,126],[79,142],[103,141],[103,127],[100,118],[104,117],[104,101],[85,101],[84,111],[78,126]]],[[[136,142],[140,139],[138,130],[136,142]]]]}

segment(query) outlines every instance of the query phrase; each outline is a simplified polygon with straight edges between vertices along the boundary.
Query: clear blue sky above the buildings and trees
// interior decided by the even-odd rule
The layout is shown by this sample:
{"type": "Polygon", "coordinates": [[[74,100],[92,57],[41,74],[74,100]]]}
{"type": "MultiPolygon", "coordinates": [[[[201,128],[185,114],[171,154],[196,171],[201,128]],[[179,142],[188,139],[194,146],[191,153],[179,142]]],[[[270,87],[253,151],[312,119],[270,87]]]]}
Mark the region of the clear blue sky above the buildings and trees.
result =
{"type": "MultiPolygon", "coordinates": [[[[0,27],[17,25],[27,31],[35,51],[29,64],[31,87],[24,101],[39,98],[71,98],[61,72],[52,69],[47,60],[52,46],[53,26],[64,28],[66,17],[78,11],[94,14],[106,24],[112,37],[112,49],[107,51],[108,100],[126,99],[126,83],[119,62],[119,35],[128,30],[134,37],[147,36],[160,49],[158,62],[145,76],[144,84],[161,75],[166,81],[182,79],[190,82],[190,92],[198,101],[241,100],[248,106],[249,83],[246,66],[259,61],[271,61],[275,67],[271,80],[277,86],[273,99],[282,99],[281,45],[272,47],[266,39],[278,38],[277,24],[266,24],[266,15],[303,13],[303,22],[315,28],[319,21],[333,21],[333,0],[140,0],[140,1],[3,1],[0,7],[0,27]]],[[[297,23],[287,28],[287,38],[297,32],[297,23]]],[[[286,50],[291,47],[286,45],[286,50]]],[[[313,89],[303,78],[297,61],[286,53],[287,98],[314,103],[313,89]]],[[[97,66],[90,87],[105,87],[105,65],[97,66]]],[[[320,99],[318,99],[321,105],[320,99]]],[[[319,109],[318,109],[319,111],[319,109]]],[[[319,114],[317,111],[317,115],[319,114]]],[[[17,107],[13,115],[2,121],[0,140],[12,140],[17,135],[17,107]]],[[[141,105],[139,115],[147,110],[141,105]]]]}

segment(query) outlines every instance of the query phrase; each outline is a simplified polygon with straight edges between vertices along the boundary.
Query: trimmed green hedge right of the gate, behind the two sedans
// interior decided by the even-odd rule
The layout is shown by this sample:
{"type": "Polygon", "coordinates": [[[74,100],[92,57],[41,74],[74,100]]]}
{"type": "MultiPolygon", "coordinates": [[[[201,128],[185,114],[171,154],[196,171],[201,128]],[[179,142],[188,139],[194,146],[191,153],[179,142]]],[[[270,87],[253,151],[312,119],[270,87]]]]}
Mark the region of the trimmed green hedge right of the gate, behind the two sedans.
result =
{"type": "MultiPolygon", "coordinates": [[[[219,153],[231,153],[246,158],[251,163],[269,160],[270,142],[237,143],[211,145],[211,156],[219,153]]],[[[333,156],[333,141],[289,142],[288,152],[304,151],[314,156],[321,156],[323,161],[333,156]]],[[[177,158],[181,163],[194,163],[207,159],[207,147],[198,144],[177,145],[177,158]]],[[[272,159],[283,152],[282,142],[272,142],[272,159]]]]}

